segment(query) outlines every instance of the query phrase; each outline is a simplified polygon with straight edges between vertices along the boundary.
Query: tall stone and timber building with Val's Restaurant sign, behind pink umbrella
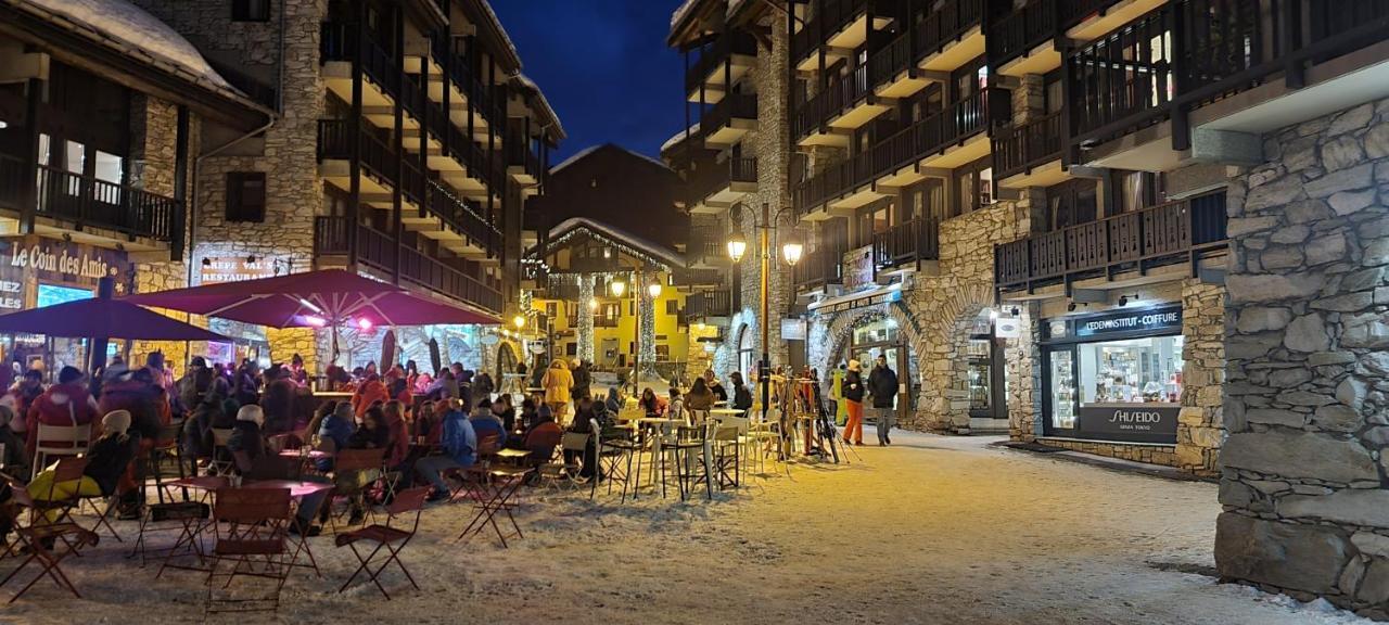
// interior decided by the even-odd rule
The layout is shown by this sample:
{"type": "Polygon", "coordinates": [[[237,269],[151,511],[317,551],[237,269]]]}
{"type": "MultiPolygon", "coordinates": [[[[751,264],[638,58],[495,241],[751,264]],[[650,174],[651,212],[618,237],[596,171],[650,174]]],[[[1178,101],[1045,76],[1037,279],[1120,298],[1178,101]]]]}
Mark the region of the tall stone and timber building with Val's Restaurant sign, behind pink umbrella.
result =
{"type": "MultiPolygon", "coordinates": [[[[522,206],[564,131],[486,1],[135,3],[276,111],[199,164],[192,282],[344,267],[519,310],[522,206]]],[[[328,357],[311,331],[219,329],[276,361],[328,357]]],[[[468,328],[404,333],[421,361],[429,339],[472,368],[497,351],[468,328]]],[[[381,335],[351,336],[347,358],[374,358],[381,335]]]]}

